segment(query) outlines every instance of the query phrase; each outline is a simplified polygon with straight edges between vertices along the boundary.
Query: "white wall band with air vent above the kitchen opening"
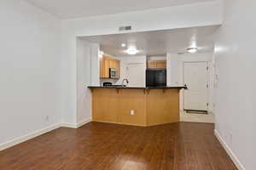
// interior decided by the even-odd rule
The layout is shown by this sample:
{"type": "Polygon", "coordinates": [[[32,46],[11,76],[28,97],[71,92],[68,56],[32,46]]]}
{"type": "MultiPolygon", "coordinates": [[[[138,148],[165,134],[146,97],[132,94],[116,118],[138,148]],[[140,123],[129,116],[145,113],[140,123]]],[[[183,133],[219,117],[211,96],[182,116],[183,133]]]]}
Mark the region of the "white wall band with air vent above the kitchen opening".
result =
{"type": "MultiPolygon", "coordinates": [[[[174,28],[213,26],[222,22],[219,0],[166,8],[155,8],[123,14],[63,20],[67,36],[95,36],[120,33],[119,26],[132,26],[132,31],[155,31],[174,28]],[[155,22],[157,21],[157,24],[155,22]]],[[[121,32],[123,33],[123,32],[121,32]]]]}

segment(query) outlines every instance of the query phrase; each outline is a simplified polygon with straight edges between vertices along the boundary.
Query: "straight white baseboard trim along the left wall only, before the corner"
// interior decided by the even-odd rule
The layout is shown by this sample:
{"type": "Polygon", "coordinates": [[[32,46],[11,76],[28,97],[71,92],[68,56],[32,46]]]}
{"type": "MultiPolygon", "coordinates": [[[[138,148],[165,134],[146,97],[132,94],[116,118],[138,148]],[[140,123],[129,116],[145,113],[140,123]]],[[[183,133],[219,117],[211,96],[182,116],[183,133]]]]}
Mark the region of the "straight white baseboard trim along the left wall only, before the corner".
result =
{"type": "Polygon", "coordinates": [[[16,138],[16,139],[12,139],[10,140],[9,142],[6,142],[6,143],[3,143],[3,144],[0,144],[0,150],[5,150],[7,148],[10,148],[16,144],[20,144],[22,142],[26,142],[27,140],[29,139],[33,139],[35,137],[38,137],[44,133],[48,133],[52,130],[55,130],[56,128],[59,128],[61,127],[60,124],[55,124],[55,125],[52,125],[52,126],[49,126],[49,127],[44,127],[36,132],[33,132],[33,133],[30,133],[30,134],[26,134],[25,136],[21,136],[19,138],[16,138]]]}

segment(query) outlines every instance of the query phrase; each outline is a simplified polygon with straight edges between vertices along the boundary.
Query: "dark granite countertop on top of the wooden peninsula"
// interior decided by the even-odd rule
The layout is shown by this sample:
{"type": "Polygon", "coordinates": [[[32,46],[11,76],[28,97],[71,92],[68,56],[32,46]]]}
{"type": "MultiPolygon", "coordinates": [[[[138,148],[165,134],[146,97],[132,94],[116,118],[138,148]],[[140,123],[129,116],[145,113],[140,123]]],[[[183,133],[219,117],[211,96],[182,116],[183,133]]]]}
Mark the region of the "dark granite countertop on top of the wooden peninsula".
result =
{"type": "Polygon", "coordinates": [[[166,87],[125,87],[125,86],[88,86],[88,88],[137,88],[137,89],[162,89],[162,88],[184,88],[188,89],[186,86],[166,86],[166,87]]]}

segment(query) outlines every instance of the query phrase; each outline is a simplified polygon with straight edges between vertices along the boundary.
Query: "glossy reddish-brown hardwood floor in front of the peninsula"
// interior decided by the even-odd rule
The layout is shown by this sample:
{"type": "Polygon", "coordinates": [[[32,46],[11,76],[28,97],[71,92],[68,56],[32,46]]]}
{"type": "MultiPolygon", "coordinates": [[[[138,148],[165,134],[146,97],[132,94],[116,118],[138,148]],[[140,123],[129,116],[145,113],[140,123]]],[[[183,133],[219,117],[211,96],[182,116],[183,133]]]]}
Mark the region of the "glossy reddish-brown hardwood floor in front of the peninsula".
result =
{"type": "Polygon", "coordinates": [[[1,170],[233,170],[213,124],[61,127],[0,151],[1,170]]]}

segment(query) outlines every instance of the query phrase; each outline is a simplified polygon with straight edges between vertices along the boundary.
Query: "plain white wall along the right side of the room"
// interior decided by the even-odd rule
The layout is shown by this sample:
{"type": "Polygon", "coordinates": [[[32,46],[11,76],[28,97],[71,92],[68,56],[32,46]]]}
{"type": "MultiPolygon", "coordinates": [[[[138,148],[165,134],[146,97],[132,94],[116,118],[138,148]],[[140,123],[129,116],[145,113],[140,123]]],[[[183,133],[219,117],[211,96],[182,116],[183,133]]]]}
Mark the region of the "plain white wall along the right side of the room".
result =
{"type": "Polygon", "coordinates": [[[256,167],[256,2],[224,1],[215,48],[216,130],[247,170],[256,167]]]}

